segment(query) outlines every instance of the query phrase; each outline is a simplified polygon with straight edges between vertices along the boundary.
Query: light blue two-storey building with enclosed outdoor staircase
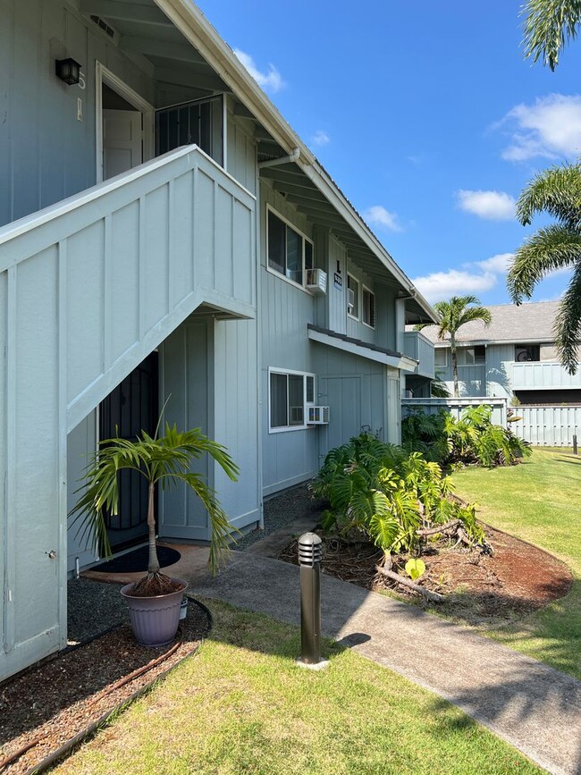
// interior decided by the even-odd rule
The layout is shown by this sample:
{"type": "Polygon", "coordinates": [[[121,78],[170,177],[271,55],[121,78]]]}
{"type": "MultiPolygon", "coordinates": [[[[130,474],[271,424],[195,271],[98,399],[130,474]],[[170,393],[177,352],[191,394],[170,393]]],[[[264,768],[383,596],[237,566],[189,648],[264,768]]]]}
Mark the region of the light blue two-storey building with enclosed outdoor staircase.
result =
{"type": "MultiPolygon", "coordinates": [[[[361,426],[399,441],[404,325],[435,319],[195,5],[2,8],[0,678],[66,644],[67,574],[96,559],[67,512],[99,438],[171,395],[166,419],[240,464],[200,470],[248,529],[361,426]]],[[[145,513],[130,476],[115,549],[145,513]]],[[[159,493],[158,533],[206,541],[206,513],[159,493]]]]}

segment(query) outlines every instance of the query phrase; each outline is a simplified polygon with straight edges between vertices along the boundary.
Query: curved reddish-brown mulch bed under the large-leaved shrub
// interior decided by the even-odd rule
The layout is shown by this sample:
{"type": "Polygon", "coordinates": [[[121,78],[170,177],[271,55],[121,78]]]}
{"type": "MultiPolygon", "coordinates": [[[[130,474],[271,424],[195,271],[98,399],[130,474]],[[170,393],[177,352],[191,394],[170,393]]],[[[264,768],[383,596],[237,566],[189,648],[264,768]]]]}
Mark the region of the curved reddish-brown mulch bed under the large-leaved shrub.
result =
{"type": "MultiPolygon", "coordinates": [[[[383,552],[373,543],[345,541],[317,532],[324,542],[324,573],[375,592],[389,591],[406,602],[424,607],[434,605],[376,572],[375,565],[382,560],[383,552]]],[[[452,549],[444,541],[430,543],[422,553],[426,570],[418,583],[445,597],[436,611],[460,623],[499,627],[568,593],[573,577],[563,562],[490,526],[484,526],[484,532],[493,546],[493,554],[478,549],[452,549]]],[[[280,559],[298,563],[296,541],[283,550],[280,559]]],[[[405,559],[398,566],[405,575],[403,565],[405,559]]]]}

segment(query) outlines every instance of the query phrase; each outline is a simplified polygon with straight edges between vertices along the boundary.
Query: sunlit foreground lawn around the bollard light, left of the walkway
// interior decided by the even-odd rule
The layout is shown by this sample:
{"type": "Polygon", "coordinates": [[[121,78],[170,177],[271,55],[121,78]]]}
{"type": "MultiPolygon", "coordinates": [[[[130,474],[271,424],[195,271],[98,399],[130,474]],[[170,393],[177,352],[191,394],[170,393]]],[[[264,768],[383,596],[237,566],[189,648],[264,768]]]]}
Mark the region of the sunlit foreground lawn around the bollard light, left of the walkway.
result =
{"type": "Polygon", "coordinates": [[[302,670],[299,629],[209,603],[198,653],[56,772],[333,775],[541,772],[457,708],[324,643],[302,670]]]}

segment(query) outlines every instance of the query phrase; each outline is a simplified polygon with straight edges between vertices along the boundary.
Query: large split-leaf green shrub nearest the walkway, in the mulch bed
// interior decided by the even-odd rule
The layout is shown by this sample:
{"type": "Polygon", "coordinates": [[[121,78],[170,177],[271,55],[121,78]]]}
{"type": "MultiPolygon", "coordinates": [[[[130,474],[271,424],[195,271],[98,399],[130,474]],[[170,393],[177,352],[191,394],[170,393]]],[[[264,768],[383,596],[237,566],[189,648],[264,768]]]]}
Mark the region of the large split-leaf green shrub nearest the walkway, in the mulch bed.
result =
{"type": "Polygon", "coordinates": [[[418,530],[452,520],[460,520],[473,541],[484,540],[474,507],[451,499],[450,477],[437,463],[368,434],[330,451],[311,490],[329,501],[325,530],[361,531],[385,554],[417,552],[418,530]]]}

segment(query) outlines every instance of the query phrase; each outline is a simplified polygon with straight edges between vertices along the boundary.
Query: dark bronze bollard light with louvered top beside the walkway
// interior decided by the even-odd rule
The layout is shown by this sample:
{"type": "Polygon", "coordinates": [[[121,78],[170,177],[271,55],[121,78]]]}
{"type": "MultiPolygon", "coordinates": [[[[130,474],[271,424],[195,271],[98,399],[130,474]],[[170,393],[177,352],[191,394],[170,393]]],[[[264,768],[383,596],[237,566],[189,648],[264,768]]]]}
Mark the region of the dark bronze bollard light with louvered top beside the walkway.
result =
{"type": "Polygon", "coordinates": [[[300,566],[300,659],[302,667],[319,670],[321,659],[321,560],[323,542],[316,533],[299,538],[300,566]]]}

